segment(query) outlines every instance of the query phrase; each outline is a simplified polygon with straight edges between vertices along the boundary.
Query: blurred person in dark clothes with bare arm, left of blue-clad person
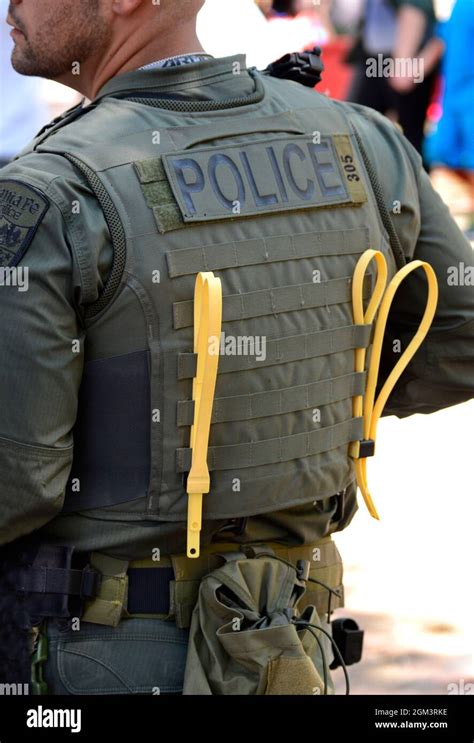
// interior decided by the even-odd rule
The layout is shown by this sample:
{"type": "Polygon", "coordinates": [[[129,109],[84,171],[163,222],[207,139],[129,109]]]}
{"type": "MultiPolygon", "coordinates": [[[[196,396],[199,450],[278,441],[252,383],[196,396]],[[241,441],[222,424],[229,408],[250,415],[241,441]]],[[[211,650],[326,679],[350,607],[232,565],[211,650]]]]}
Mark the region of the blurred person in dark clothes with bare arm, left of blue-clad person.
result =
{"type": "Polygon", "coordinates": [[[361,36],[348,58],[355,65],[348,100],[395,114],[405,136],[420,153],[443,48],[435,37],[435,23],[433,0],[366,0],[361,36]],[[384,62],[388,58],[414,59],[421,74],[418,70],[411,74],[406,62],[406,74],[368,74],[372,60],[384,62]]]}

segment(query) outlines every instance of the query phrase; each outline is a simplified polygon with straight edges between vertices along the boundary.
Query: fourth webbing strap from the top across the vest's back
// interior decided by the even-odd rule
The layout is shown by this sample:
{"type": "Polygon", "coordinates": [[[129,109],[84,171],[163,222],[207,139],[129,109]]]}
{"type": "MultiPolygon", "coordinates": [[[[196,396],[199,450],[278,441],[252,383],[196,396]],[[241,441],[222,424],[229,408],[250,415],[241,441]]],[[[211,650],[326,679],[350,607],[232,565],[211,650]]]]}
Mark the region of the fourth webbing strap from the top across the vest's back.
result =
{"type": "MultiPolygon", "coordinates": [[[[329,405],[355,395],[362,395],[365,383],[365,372],[353,372],[297,387],[256,392],[251,395],[216,397],[211,423],[251,420],[329,405]]],[[[180,400],[178,402],[178,426],[190,426],[193,416],[193,400],[180,400]]]]}

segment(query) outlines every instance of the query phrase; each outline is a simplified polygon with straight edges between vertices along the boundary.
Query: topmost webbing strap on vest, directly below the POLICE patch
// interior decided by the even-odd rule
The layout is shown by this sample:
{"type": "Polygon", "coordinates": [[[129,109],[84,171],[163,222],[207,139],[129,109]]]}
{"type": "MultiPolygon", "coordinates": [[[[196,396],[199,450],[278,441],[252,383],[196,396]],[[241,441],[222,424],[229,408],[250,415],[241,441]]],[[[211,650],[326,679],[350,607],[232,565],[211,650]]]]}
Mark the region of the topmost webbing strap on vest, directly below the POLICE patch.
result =
{"type": "Polygon", "coordinates": [[[330,255],[359,255],[369,246],[366,228],[299,232],[218,245],[182,248],[166,253],[170,278],[259,263],[330,255]]]}

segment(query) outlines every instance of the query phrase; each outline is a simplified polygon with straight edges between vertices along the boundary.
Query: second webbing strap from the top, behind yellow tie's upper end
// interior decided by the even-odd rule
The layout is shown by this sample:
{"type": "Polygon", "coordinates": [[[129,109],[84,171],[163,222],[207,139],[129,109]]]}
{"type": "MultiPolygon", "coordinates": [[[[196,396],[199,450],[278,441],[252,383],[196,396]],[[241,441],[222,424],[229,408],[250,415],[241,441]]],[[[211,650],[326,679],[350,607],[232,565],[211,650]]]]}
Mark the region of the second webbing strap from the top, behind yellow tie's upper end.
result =
{"type": "MultiPolygon", "coordinates": [[[[325,307],[351,300],[352,277],[332,279],[321,283],[295,284],[263,289],[247,294],[227,294],[223,297],[223,322],[245,320],[279,312],[325,307]]],[[[193,324],[193,302],[173,304],[173,322],[176,330],[193,324]]]]}

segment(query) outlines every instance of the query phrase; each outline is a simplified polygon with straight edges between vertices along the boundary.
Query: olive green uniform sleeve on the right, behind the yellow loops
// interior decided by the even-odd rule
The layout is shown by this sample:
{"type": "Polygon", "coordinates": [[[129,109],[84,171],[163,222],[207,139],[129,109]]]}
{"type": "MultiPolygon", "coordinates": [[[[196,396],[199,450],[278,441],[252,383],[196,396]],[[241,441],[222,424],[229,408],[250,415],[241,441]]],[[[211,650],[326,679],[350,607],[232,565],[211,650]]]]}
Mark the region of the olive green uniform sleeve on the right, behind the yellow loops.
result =
{"type": "MultiPolygon", "coordinates": [[[[433,189],[421,158],[399,130],[374,111],[347,109],[382,187],[407,261],[435,270],[439,301],[426,340],[396,385],[385,415],[431,413],[474,396],[474,261],[472,248],[433,189]]],[[[376,246],[373,246],[376,247],[376,246]]],[[[416,332],[426,303],[422,272],[411,275],[392,305],[380,384],[416,332]]]]}

